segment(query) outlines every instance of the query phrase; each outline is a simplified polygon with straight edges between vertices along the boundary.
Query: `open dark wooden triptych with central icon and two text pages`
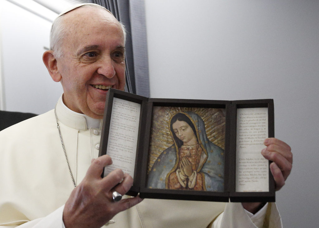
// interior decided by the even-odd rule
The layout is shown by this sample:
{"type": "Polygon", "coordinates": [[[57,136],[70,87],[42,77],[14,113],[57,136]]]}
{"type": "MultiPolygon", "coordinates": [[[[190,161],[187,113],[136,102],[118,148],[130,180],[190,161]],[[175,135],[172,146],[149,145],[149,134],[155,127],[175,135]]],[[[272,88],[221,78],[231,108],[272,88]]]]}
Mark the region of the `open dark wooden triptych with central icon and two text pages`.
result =
{"type": "Polygon", "coordinates": [[[108,91],[99,156],[133,178],[128,195],[221,202],[274,202],[273,100],[154,99],[108,91]]]}

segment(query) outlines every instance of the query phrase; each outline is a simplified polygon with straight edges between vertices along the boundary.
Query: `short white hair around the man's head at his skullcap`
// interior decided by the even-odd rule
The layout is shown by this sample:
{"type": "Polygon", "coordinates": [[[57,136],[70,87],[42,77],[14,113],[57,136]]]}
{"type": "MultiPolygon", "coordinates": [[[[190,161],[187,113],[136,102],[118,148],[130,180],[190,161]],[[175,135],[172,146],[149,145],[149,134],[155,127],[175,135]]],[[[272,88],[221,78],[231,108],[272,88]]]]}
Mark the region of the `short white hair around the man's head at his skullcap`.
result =
{"type": "MultiPolygon", "coordinates": [[[[103,8],[103,9],[107,10],[103,6],[100,6],[100,5],[97,5],[97,4],[82,5],[82,6],[79,6],[77,8],[80,8],[80,7],[92,7],[92,8],[100,8],[100,9],[103,8]]],[[[77,8],[74,8],[74,9],[77,9],[77,8]]],[[[69,10],[67,12],[70,12],[70,11],[71,10],[69,10]]],[[[107,11],[110,12],[109,10],[107,10],[107,11]]],[[[63,56],[62,41],[63,41],[63,38],[66,37],[66,35],[67,35],[67,30],[66,30],[66,28],[64,26],[63,17],[65,16],[65,14],[67,12],[64,12],[62,15],[59,15],[53,21],[53,24],[51,26],[51,31],[50,31],[50,50],[53,51],[53,55],[54,55],[55,58],[60,58],[60,57],[63,56]]],[[[119,23],[120,23],[120,25],[122,27],[122,30],[123,30],[124,44],[125,44],[126,29],[125,29],[124,24],[122,24],[121,22],[119,22],[119,23]]]]}

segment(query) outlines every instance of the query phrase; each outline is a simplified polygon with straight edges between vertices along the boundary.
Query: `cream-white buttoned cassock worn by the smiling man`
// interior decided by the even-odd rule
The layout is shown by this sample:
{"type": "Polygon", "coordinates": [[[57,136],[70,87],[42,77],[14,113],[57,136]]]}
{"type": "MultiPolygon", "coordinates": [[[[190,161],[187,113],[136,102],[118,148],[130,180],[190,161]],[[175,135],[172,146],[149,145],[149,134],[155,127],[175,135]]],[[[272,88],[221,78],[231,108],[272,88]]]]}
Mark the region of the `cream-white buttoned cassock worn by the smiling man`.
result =
{"type": "MultiPolygon", "coordinates": [[[[98,156],[102,121],[71,111],[62,98],[56,111],[70,168],[79,184],[91,159],[98,156]]],[[[0,132],[0,227],[62,228],[63,205],[72,190],[54,110],[0,132]]],[[[145,199],[104,227],[282,227],[274,203],[251,216],[241,203],[145,199]]]]}

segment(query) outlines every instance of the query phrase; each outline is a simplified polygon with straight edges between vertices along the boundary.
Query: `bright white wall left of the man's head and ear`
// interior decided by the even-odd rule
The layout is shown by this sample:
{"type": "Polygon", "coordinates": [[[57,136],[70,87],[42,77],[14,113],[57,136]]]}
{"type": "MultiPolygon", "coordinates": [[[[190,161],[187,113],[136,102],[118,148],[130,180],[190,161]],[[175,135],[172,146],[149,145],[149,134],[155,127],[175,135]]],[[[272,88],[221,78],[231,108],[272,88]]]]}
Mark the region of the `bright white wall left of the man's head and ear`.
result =
{"type": "Polygon", "coordinates": [[[49,47],[51,24],[0,0],[2,110],[41,114],[54,108],[62,94],[61,84],[51,79],[42,62],[44,47],[49,47]]]}

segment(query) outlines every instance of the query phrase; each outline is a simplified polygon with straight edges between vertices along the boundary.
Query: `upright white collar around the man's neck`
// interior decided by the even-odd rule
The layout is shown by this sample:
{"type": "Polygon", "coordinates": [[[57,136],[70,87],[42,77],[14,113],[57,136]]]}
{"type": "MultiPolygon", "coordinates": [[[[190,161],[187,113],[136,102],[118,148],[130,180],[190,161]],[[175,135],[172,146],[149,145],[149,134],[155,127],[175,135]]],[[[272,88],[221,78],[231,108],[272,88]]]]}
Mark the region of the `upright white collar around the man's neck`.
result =
{"type": "Polygon", "coordinates": [[[90,128],[102,128],[102,120],[93,119],[85,114],[72,111],[63,104],[62,96],[56,105],[56,114],[58,120],[70,128],[75,128],[80,131],[85,131],[90,128]]]}

